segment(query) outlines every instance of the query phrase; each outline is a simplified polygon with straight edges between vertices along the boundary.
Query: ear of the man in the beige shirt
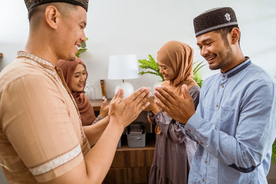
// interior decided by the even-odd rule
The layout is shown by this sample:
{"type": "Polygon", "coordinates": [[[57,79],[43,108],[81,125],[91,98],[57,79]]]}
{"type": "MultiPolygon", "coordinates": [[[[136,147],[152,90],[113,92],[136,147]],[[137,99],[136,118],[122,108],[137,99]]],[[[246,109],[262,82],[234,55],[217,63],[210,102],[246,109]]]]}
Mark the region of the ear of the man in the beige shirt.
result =
{"type": "Polygon", "coordinates": [[[47,6],[45,10],[45,20],[46,23],[50,26],[52,29],[58,28],[58,23],[60,21],[61,13],[55,6],[47,6]]]}

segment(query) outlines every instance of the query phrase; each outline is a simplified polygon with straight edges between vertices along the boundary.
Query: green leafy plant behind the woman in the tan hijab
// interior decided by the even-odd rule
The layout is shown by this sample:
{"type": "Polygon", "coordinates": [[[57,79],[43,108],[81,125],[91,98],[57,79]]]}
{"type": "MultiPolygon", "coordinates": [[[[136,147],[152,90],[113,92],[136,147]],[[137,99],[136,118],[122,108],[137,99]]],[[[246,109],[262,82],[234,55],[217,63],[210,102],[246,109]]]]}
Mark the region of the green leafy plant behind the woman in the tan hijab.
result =
{"type": "MultiPolygon", "coordinates": [[[[149,59],[139,59],[138,62],[141,63],[141,65],[139,65],[140,68],[144,68],[144,69],[150,69],[151,71],[146,71],[146,72],[139,72],[139,75],[143,75],[143,74],[154,74],[157,76],[161,77],[161,81],[165,81],[163,74],[161,74],[159,72],[159,67],[157,62],[155,61],[155,59],[153,59],[153,57],[148,54],[149,59]]],[[[199,74],[199,70],[204,67],[204,65],[206,65],[204,63],[204,61],[199,62],[197,65],[195,65],[197,62],[193,63],[194,65],[194,69],[193,69],[193,73],[194,73],[194,80],[197,82],[197,84],[199,85],[199,87],[201,88],[201,85],[203,83],[203,80],[201,79],[201,75],[199,74]]]]}

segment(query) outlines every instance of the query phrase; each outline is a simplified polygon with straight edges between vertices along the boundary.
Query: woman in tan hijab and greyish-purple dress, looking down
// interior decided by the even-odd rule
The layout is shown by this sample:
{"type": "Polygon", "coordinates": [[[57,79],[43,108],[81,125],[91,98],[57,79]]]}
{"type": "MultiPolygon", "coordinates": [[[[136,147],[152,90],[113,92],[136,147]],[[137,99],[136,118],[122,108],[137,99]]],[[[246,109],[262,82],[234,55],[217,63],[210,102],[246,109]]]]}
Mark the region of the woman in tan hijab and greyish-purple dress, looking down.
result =
{"type": "MultiPolygon", "coordinates": [[[[200,88],[193,80],[193,49],[180,41],[169,41],[159,50],[157,62],[165,79],[162,85],[180,96],[181,86],[186,84],[196,109],[200,88]]],[[[153,100],[147,110],[150,121],[156,123],[157,134],[149,183],[188,183],[196,143],[188,139],[180,123],[159,110],[153,100]]]]}

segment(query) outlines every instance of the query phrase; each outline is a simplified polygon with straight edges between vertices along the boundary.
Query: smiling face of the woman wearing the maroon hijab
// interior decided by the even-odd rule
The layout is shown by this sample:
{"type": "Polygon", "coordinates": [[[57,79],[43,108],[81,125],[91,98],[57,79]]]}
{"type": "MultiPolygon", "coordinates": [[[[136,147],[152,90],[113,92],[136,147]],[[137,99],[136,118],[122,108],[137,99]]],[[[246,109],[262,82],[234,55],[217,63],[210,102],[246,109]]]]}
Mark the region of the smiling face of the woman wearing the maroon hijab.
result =
{"type": "Polygon", "coordinates": [[[73,92],[82,92],[84,82],[86,81],[86,69],[83,65],[78,64],[71,77],[71,89],[73,92]]]}

